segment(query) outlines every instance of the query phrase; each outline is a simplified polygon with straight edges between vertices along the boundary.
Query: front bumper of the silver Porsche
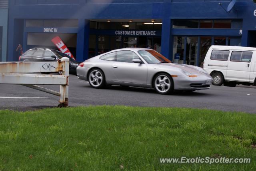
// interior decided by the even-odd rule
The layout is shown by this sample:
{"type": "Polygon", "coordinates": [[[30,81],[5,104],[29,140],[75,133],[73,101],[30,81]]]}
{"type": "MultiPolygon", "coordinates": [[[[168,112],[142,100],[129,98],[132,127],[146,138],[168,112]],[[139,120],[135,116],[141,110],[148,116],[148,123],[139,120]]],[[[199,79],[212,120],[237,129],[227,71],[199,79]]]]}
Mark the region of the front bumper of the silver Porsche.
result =
{"type": "Polygon", "coordinates": [[[174,89],[176,90],[200,90],[209,89],[212,83],[212,77],[202,75],[197,77],[178,76],[173,77],[174,89]]]}

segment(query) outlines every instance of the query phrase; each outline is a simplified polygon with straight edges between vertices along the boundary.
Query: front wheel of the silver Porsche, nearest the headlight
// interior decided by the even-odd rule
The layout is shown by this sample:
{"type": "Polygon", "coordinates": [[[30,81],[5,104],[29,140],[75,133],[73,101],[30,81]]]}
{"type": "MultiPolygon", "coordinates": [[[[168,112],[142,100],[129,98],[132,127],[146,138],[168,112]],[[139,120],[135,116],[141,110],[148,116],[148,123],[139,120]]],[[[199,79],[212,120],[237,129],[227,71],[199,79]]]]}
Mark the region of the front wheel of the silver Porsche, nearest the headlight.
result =
{"type": "Polygon", "coordinates": [[[173,81],[168,74],[158,74],[154,79],[154,88],[160,94],[170,94],[173,91],[173,81]]]}

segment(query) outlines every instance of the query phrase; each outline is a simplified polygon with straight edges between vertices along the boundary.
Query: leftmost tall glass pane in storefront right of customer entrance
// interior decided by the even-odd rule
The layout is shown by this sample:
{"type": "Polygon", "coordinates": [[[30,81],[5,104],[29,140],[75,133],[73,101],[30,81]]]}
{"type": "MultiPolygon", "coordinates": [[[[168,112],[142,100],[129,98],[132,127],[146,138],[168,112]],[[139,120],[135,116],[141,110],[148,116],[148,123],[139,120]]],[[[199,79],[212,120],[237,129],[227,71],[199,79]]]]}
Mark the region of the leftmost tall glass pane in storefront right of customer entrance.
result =
{"type": "Polygon", "coordinates": [[[173,38],[173,62],[183,64],[185,37],[174,36],[173,38]]]}

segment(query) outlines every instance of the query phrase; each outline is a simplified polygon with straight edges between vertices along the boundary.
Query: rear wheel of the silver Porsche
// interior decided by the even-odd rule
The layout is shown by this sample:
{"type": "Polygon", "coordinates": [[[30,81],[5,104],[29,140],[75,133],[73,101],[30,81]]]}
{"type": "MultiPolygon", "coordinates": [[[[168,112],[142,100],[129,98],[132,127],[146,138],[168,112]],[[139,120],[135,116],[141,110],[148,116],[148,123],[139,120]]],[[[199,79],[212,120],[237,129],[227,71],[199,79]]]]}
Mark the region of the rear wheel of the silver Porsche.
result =
{"type": "Polygon", "coordinates": [[[102,88],[105,86],[105,76],[100,69],[93,69],[88,77],[89,84],[94,88],[102,88]]]}

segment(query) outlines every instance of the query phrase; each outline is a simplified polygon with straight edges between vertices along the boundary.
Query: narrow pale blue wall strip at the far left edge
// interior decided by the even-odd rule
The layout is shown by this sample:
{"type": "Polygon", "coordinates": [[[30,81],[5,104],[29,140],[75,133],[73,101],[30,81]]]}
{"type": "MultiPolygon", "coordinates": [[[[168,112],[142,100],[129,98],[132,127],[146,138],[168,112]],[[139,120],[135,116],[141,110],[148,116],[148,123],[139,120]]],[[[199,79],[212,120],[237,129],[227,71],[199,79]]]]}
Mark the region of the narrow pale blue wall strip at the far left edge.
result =
{"type": "Polygon", "coordinates": [[[2,61],[4,62],[7,56],[8,9],[0,9],[0,26],[3,27],[2,61]]]}

